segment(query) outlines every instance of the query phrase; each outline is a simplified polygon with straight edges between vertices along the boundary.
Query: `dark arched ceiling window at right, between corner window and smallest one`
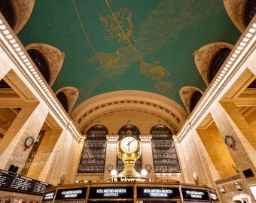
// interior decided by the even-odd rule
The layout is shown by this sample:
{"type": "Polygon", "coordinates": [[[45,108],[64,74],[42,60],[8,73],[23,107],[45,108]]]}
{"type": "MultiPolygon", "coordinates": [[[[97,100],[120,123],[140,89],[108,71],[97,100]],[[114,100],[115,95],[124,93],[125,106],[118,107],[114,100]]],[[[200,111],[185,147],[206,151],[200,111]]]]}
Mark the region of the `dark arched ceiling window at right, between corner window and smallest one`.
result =
{"type": "Polygon", "coordinates": [[[215,54],[212,59],[212,63],[209,68],[209,83],[212,82],[215,75],[218,73],[218,70],[221,68],[221,65],[227,59],[227,56],[230,54],[230,48],[223,48],[215,54]]]}

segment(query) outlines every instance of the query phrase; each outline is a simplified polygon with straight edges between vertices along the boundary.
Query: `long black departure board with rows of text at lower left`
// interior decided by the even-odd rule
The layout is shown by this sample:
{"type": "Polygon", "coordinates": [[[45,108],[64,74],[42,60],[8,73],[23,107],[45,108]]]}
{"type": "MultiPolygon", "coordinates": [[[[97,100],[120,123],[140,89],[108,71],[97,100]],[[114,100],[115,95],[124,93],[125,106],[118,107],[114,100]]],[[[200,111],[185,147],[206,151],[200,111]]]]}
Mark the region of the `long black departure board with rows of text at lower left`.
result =
{"type": "Polygon", "coordinates": [[[49,186],[48,183],[0,169],[0,190],[44,195],[44,190],[49,186]]]}

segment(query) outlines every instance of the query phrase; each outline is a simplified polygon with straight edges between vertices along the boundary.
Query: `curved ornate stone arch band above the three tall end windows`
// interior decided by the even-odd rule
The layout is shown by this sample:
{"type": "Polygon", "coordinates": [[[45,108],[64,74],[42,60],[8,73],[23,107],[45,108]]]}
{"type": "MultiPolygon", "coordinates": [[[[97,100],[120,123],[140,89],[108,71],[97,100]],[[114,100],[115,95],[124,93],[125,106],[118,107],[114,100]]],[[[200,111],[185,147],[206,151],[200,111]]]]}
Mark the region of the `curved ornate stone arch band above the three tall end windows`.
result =
{"type": "Polygon", "coordinates": [[[187,113],[176,102],[162,95],[136,90],[123,90],[97,95],[81,103],[71,117],[83,129],[90,120],[113,111],[146,111],[169,120],[180,129],[187,119],[187,113]]]}

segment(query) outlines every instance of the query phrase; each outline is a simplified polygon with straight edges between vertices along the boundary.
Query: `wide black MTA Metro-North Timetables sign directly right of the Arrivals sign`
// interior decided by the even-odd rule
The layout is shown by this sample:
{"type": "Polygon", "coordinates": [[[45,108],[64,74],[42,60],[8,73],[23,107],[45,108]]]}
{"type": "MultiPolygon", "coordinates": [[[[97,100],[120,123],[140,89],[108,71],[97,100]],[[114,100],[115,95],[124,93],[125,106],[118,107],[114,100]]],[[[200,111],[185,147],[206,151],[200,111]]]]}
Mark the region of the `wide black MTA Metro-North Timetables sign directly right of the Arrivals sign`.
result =
{"type": "Polygon", "coordinates": [[[178,188],[137,186],[137,198],[180,198],[178,188]]]}

